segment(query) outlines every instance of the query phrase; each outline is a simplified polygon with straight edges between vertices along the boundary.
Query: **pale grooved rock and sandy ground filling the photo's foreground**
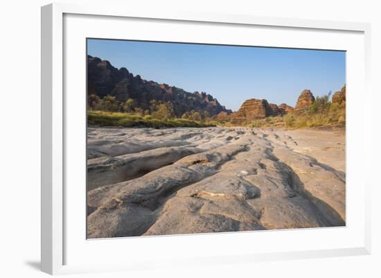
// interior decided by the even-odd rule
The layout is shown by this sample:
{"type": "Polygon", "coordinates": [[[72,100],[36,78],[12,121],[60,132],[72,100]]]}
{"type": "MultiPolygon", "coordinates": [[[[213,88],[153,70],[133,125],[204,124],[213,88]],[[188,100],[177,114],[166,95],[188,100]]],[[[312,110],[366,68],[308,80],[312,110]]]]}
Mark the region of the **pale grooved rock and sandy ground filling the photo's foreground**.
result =
{"type": "Polygon", "coordinates": [[[344,130],[89,128],[89,238],[345,225],[344,130]]]}

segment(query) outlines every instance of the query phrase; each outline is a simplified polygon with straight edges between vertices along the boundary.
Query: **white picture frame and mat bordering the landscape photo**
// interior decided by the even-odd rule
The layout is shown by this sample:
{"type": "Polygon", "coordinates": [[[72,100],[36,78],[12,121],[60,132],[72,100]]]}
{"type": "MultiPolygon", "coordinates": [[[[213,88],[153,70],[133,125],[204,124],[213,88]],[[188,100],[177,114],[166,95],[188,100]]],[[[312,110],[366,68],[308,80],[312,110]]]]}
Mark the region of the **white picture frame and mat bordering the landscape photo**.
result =
{"type": "MultiPolygon", "coordinates": [[[[148,33],[148,28],[142,27],[141,30],[146,29],[148,33]]],[[[371,198],[369,190],[372,180],[371,175],[368,173],[370,167],[364,163],[360,165],[359,163],[362,162],[359,161],[371,161],[371,159],[366,159],[366,157],[371,156],[371,111],[369,107],[364,109],[365,104],[358,101],[360,99],[359,94],[354,93],[356,91],[362,92],[362,98],[371,98],[369,90],[370,31],[370,24],[351,22],[181,11],[170,11],[168,14],[163,14],[149,9],[129,10],[128,7],[107,5],[78,6],[75,4],[54,3],[42,7],[42,271],[55,275],[76,272],[143,270],[159,266],[169,268],[171,263],[176,263],[179,266],[190,266],[190,264],[194,265],[195,263],[200,265],[205,263],[235,263],[238,261],[252,263],[254,261],[278,259],[370,254],[371,198]],[[300,48],[349,51],[351,55],[348,58],[350,60],[347,60],[347,67],[351,67],[355,63],[359,67],[353,69],[353,71],[347,68],[347,78],[351,78],[350,82],[347,83],[347,179],[349,184],[347,189],[350,189],[347,196],[347,226],[329,229],[303,229],[303,231],[292,229],[254,233],[197,234],[87,241],[85,234],[82,233],[85,216],[78,218],[82,219],[78,220],[80,222],[76,222],[76,218],[71,217],[73,216],[73,210],[78,208],[82,210],[80,206],[85,209],[85,203],[82,203],[83,199],[73,198],[76,190],[81,190],[80,186],[83,186],[82,195],[85,195],[85,184],[78,182],[78,188],[73,190],[67,188],[68,182],[72,184],[70,181],[72,181],[73,177],[83,177],[85,175],[84,173],[82,173],[83,175],[81,173],[69,173],[71,170],[69,169],[70,166],[68,166],[68,162],[72,159],[75,150],[78,150],[78,155],[83,153],[84,150],[83,142],[81,146],[78,145],[78,149],[73,146],[72,142],[76,138],[71,138],[70,134],[73,134],[75,130],[80,130],[81,134],[85,134],[83,121],[73,123],[73,119],[75,120],[77,116],[83,116],[85,105],[82,104],[85,103],[85,90],[83,91],[83,100],[78,101],[78,106],[71,101],[70,96],[66,95],[68,88],[71,89],[71,86],[76,83],[71,82],[73,75],[80,78],[85,74],[83,71],[85,69],[85,53],[82,53],[84,58],[80,62],[82,63],[81,67],[75,67],[72,58],[82,55],[80,53],[83,49],[82,43],[85,43],[83,41],[84,37],[94,37],[95,34],[98,37],[128,38],[123,37],[123,33],[121,30],[117,30],[118,28],[116,30],[109,28],[113,26],[112,24],[120,24],[121,22],[129,24],[128,20],[151,27],[154,27],[152,24],[162,24],[160,30],[165,29],[163,24],[169,26],[168,28],[171,28],[170,26],[173,24],[182,24],[184,30],[198,28],[195,25],[205,29],[221,28],[221,31],[224,31],[222,28],[228,31],[231,26],[234,26],[238,31],[240,28],[262,28],[262,31],[263,28],[266,28],[265,33],[268,32],[269,34],[271,34],[272,30],[275,32],[277,28],[281,29],[281,31],[287,29],[287,32],[290,31],[290,35],[292,35],[292,32],[295,33],[296,39],[303,33],[305,37],[310,36],[311,40],[308,42],[296,42],[298,40],[295,39],[295,42],[286,42],[285,40],[281,42],[279,37],[267,35],[267,42],[263,42],[263,44],[276,47],[294,47],[297,45],[300,48]],[[105,27],[97,26],[98,21],[102,21],[105,27]],[[73,26],[76,28],[73,28],[73,26]],[[97,28],[97,30],[90,31],[91,28],[97,28]],[[114,30],[113,33],[111,33],[111,30],[114,30]],[[107,32],[110,32],[109,35],[107,35],[107,32]],[[312,35],[309,34],[311,32],[312,35]],[[324,34],[329,35],[332,41],[324,40],[324,34]],[[335,44],[334,38],[338,34],[342,34],[343,40],[335,44]],[[317,44],[312,40],[312,37],[319,36],[322,36],[323,39],[320,44],[317,44]],[[77,44],[78,42],[80,44],[77,44]],[[72,51],[72,49],[78,50],[72,51]],[[356,103],[357,106],[355,107],[351,103],[356,103]],[[360,116],[354,117],[351,114],[355,108],[361,112],[360,116]],[[360,126],[362,128],[361,132],[351,129],[351,126],[360,126]],[[72,128],[73,130],[71,130],[72,128]],[[351,174],[351,169],[355,167],[358,169],[357,173],[351,174]],[[360,175],[363,176],[362,179],[360,179],[360,175]],[[353,184],[357,183],[357,186],[360,184],[359,188],[351,187],[351,182],[353,184]],[[356,198],[353,198],[354,196],[356,198]],[[68,201],[76,205],[70,205],[68,208],[68,201]],[[354,211],[357,212],[354,213],[354,211]],[[78,226],[76,226],[76,223],[79,223],[78,226]],[[223,249],[220,248],[222,236],[225,243],[223,249]],[[285,238],[287,240],[301,238],[301,242],[303,242],[303,240],[307,240],[311,236],[317,237],[315,245],[311,243],[310,246],[299,246],[293,250],[290,249],[290,246],[282,244],[270,248],[258,243],[256,248],[253,249],[249,248],[250,244],[246,244],[251,241],[255,242],[255,238],[260,238],[261,242],[271,238],[272,243],[285,238]],[[337,241],[336,244],[333,241],[322,243],[319,237],[324,238],[324,236],[336,236],[342,238],[342,241],[337,241]],[[197,255],[197,250],[191,248],[197,243],[201,243],[206,248],[200,256],[197,255]],[[240,247],[233,247],[235,246],[233,243],[245,244],[240,247]],[[128,244],[130,250],[136,250],[136,252],[132,252],[134,254],[130,257],[126,255],[127,257],[122,260],[115,259],[118,254],[115,255],[115,258],[110,257],[108,254],[107,258],[100,258],[99,261],[96,261],[97,259],[94,256],[84,256],[84,252],[87,252],[86,254],[95,254],[97,250],[99,250],[100,254],[107,254],[107,251],[113,250],[113,248],[116,249],[121,244],[128,244]],[[178,249],[181,244],[184,244],[183,251],[178,249]],[[152,252],[155,254],[146,257],[144,252],[137,252],[139,247],[143,249],[150,247],[152,250],[167,249],[167,254],[152,252]],[[173,254],[174,252],[178,253],[173,254]],[[87,259],[84,259],[85,257],[87,259]],[[170,258],[172,262],[168,263],[167,261],[165,263],[165,260],[163,262],[161,257],[170,258]],[[115,260],[113,261],[113,259],[115,260]]],[[[260,31],[258,32],[260,33],[260,31]]],[[[156,37],[154,38],[156,39],[154,40],[159,40],[160,36],[164,34],[159,31],[155,33],[156,37]]],[[[173,35],[172,33],[171,35],[168,33],[168,37],[164,40],[187,40],[186,37],[181,37],[181,35],[186,36],[186,32],[184,33],[185,35],[173,35]]],[[[203,35],[202,32],[195,33],[198,33],[199,36],[203,35]]],[[[204,35],[207,35],[207,33],[204,35]]],[[[136,36],[139,36],[139,34],[136,36]]],[[[233,38],[233,35],[231,37],[233,38]]],[[[204,39],[195,37],[193,40],[202,42],[204,39]]],[[[218,37],[215,40],[218,40],[218,37]]],[[[239,34],[235,40],[238,42],[242,40],[241,44],[251,44],[250,41],[246,42],[245,37],[239,34]]],[[[85,82],[85,79],[82,82],[85,82]]],[[[82,85],[82,83],[78,85],[78,89],[83,89],[82,85]]],[[[83,159],[85,161],[85,156],[83,159]]],[[[78,171],[82,170],[83,168],[78,168],[78,171]]],[[[78,211],[78,213],[82,215],[82,211],[78,211]]],[[[98,257],[102,256],[99,255],[98,257]]]]}

